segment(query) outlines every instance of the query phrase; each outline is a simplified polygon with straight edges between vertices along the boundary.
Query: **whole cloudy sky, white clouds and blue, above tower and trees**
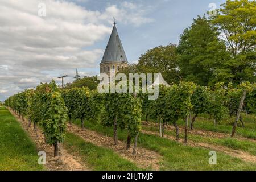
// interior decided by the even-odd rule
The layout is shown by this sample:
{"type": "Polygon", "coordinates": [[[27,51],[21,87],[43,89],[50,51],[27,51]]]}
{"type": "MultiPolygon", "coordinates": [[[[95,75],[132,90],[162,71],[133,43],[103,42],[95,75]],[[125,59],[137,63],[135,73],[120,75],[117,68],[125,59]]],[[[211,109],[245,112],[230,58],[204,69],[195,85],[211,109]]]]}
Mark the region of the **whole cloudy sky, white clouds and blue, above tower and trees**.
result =
{"type": "Polygon", "coordinates": [[[40,82],[97,75],[113,26],[136,63],[147,49],[177,44],[193,18],[224,0],[0,0],[0,101],[40,82]],[[45,10],[44,11],[44,7],[45,10]],[[46,13],[44,16],[44,13],[46,13]]]}

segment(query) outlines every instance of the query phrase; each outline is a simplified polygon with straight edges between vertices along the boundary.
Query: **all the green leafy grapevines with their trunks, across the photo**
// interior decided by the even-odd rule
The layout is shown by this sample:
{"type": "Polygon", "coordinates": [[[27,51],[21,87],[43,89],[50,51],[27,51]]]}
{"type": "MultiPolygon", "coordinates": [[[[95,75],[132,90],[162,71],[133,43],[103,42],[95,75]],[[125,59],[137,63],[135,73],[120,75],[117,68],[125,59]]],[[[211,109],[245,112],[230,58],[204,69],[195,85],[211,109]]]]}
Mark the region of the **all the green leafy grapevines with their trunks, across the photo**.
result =
{"type": "Polygon", "coordinates": [[[243,82],[236,88],[229,84],[216,84],[213,90],[193,82],[183,82],[170,87],[159,85],[159,98],[148,100],[148,94],[98,93],[88,88],[60,89],[54,81],[40,84],[37,88],[25,90],[11,96],[5,105],[13,109],[22,119],[27,118],[28,125],[34,123],[34,130],[42,127],[46,143],[52,144],[55,156],[59,155],[59,143],[65,137],[65,122],[80,119],[81,129],[84,122],[112,127],[114,143],[118,143],[118,128],[127,130],[126,148],[131,146],[134,138],[133,154],[136,153],[137,139],[141,130],[142,115],[155,118],[159,122],[160,136],[164,134],[164,125],[171,123],[179,140],[177,120],[185,122],[185,138],[188,140],[188,118],[192,117],[190,128],[199,114],[209,114],[215,125],[226,115],[237,115],[232,131],[242,117],[241,110],[255,114],[256,86],[243,82]]]}

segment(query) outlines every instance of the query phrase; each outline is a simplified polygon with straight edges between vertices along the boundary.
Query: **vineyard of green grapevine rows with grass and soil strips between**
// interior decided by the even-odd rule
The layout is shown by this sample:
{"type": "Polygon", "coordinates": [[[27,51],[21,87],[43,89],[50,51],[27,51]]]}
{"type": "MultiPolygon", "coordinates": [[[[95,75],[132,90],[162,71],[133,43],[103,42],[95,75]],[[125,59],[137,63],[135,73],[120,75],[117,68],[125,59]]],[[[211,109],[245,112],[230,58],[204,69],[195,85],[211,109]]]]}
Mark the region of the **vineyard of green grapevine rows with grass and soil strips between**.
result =
{"type": "Polygon", "coordinates": [[[35,140],[53,146],[48,155],[59,163],[75,155],[80,167],[73,169],[255,170],[255,96],[249,82],[210,89],[181,81],[160,85],[159,98],[148,100],[52,81],[5,106],[35,140]],[[217,151],[217,165],[208,163],[209,151],[217,151]]]}

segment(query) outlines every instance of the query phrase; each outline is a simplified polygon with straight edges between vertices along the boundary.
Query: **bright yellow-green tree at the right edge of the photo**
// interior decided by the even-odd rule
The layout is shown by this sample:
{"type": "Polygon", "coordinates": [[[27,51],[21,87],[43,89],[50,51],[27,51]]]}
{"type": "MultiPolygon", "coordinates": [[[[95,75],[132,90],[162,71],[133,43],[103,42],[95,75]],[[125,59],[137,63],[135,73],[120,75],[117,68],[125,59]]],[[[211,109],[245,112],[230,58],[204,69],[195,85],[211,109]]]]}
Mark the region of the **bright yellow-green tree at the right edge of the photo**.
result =
{"type": "Polygon", "coordinates": [[[222,68],[229,73],[230,82],[238,85],[242,81],[256,81],[256,2],[249,0],[227,0],[218,9],[212,23],[224,35],[230,59],[222,68]]]}

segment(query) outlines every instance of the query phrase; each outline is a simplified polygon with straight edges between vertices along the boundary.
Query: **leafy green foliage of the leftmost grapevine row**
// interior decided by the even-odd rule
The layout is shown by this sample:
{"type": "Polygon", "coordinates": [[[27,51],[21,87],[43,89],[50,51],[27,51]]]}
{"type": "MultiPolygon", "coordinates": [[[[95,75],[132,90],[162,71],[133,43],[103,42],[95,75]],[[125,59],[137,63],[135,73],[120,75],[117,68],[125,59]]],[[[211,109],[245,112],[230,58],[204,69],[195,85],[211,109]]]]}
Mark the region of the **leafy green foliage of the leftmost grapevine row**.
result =
{"type": "Polygon", "coordinates": [[[57,146],[57,143],[63,142],[67,108],[55,81],[40,84],[36,90],[25,90],[11,96],[5,103],[23,117],[27,116],[35,124],[39,123],[46,143],[57,146]]]}

